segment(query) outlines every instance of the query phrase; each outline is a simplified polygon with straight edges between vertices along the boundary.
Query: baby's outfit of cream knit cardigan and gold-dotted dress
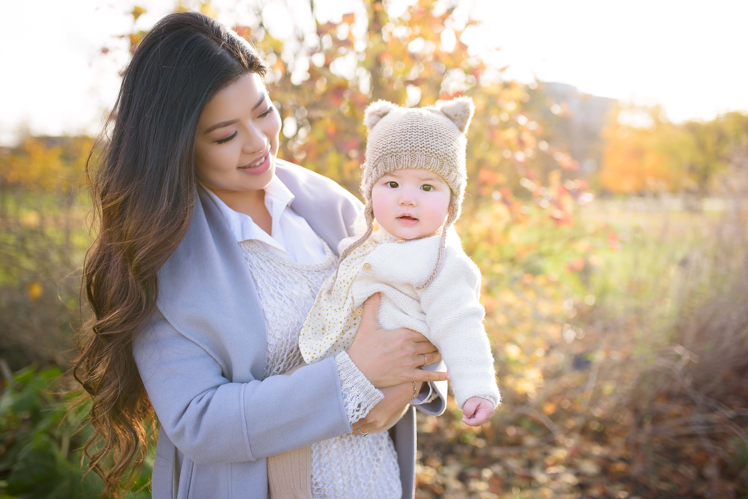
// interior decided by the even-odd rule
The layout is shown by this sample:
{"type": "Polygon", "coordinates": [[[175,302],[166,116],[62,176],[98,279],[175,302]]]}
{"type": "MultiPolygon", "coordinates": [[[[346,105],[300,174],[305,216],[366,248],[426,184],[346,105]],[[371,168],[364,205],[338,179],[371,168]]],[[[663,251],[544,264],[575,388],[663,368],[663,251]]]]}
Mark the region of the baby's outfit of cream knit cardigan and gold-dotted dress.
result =
{"type": "MultiPolygon", "coordinates": [[[[465,400],[475,396],[497,406],[501,397],[483,326],[480,271],[463,251],[452,227],[435,279],[426,288],[415,288],[434,268],[439,239],[435,235],[403,241],[377,228],[346,256],[331,293],[327,291],[334,276],[322,284],[304,321],[299,336],[304,361],[311,364],[347,350],[358,330],[364,300],[379,292],[380,325],[384,329],[413,329],[435,344],[450,371],[460,409],[465,400]]],[[[340,241],[339,254],[356,240],[340,241]]]]}

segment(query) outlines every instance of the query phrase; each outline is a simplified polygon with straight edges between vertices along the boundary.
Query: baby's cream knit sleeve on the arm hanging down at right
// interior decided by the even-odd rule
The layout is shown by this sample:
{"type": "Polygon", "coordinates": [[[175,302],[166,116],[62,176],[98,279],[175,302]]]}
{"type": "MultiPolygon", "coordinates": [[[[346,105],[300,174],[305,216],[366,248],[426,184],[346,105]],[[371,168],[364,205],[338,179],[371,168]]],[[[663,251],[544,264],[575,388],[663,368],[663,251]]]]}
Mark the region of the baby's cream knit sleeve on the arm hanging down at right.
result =
{"type": "Polygon", "coordinates": [[[450,371],[460,409],[470,397],[484,397],[494,407],[501,401],[479,297],[480,271],[462,248],[454,247],[447,249],[437,276],[420,292],[427,337],[450,371]]]}

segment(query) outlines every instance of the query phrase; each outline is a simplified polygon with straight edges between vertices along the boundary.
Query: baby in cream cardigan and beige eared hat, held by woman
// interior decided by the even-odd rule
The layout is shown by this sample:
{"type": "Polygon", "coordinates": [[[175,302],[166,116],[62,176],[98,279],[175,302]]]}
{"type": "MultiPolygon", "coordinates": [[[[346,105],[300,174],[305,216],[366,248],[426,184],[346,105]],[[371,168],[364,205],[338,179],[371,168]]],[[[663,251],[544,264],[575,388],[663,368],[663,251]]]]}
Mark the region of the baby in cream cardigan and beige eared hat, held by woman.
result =
{"type": "MultiPolygon", "coordinates": [[[[438,348],[462,421],[479,426],[491,419],[500,394],[480,272],[453,228],[465,193],[465,132],[473,112],[467,97],[427,108],[386,101],[367,108],[366,206],[356,235],[340,241],[337,271],[317,294],[299,347],[307,364],[347,350],[364,301],[379,293],[381,327],[413,329],[438,348]]],[[[269,477],[281,473],[273,468],[269,460],[269,477]]]]}

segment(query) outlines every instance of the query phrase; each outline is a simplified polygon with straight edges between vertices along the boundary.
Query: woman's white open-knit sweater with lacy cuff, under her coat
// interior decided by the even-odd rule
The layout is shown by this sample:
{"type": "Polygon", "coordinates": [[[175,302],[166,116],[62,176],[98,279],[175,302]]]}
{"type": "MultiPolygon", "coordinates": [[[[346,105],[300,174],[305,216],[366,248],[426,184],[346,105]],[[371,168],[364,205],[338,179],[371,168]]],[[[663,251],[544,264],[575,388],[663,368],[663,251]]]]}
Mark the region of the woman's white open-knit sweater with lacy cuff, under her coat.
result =
{"type": "MultiPolygon", "coordinates": [[[[323,241],[324,242],[324,241],[323,241]]],[[[269,252],[253,240],[239,243],[254,280],[267,324],[265,376],[283,374],[304,362],[298,334],[322,282],[336,259],[325,244],[321,264],[300,264],[269,252]]],[[[335,358],[349,422],[364,417],[381,391],[358,371],[346,353],[335,358]]],[[[387,432],[367,438],[343,435],[312,444],[312,493],[316,499],[402,496],[397,455],[387,432]]]]}

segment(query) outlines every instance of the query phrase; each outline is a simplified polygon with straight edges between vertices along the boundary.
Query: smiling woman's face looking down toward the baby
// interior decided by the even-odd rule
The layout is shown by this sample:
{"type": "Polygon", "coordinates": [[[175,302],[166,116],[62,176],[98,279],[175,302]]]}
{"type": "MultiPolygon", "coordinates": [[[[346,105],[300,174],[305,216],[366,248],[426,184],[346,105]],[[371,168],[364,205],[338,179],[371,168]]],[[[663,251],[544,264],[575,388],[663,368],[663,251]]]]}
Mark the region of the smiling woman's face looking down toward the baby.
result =
{"type": "Polygon", "coordinates": [[[197,122],[197,178],[215,193],[264,189],[275,174],[281,117],[251,72],[210,99],[197,122]]]}

